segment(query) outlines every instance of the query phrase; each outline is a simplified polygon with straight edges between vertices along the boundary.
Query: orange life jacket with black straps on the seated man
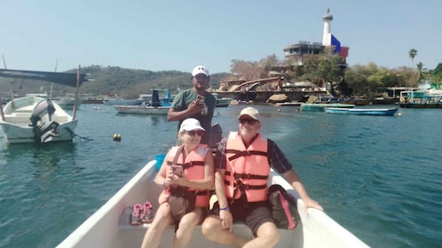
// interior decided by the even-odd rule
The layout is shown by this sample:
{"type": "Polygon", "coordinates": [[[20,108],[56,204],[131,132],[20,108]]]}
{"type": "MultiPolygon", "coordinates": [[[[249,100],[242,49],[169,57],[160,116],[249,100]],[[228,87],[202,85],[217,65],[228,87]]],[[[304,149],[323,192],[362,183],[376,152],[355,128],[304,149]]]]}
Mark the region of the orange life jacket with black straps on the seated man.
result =
{"type": "Polygon", "coordinates": [[[270,165],[267,158],[267,138],[257,135],[248,148],[238,132],[231,132],[225,147],[225,194],[227,198],[245,198],[246,202],[267,198],[270,165]]]}

